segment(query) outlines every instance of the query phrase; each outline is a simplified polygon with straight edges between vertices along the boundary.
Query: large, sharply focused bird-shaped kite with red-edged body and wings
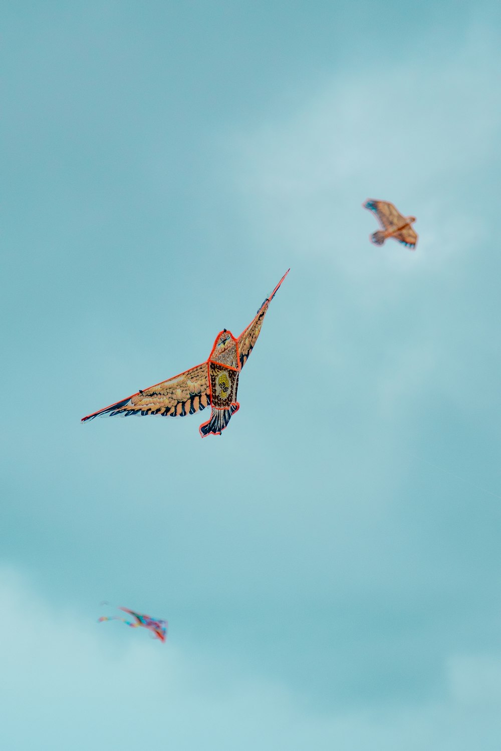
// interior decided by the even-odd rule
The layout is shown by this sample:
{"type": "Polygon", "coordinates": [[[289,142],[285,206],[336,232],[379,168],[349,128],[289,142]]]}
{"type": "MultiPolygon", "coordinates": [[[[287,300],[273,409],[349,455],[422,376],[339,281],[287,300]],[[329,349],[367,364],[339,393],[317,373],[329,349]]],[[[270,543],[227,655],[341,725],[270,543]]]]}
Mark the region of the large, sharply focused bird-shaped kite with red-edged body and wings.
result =
{"type": "Polygon", "coordinates": [[[285,272],[276,288],[264,300],[255,318],[243,330],[238,339],[231,331],[223,329],[216,336],[209,359],[196,365],[168,381],[138,391],[127,399],[110,404],[104,409],[82,418],[82,422],[98,416],[122,415],[162,415],[163,417],[184,417],[211,407],[210,420],[201,424],[202,438],[213,433],[220,436],[227,427],[231,416],[237,412],[237,388],[240,370],[249,358],[256,339],[261,332],[264,316],[290,269],[285,272]]]}

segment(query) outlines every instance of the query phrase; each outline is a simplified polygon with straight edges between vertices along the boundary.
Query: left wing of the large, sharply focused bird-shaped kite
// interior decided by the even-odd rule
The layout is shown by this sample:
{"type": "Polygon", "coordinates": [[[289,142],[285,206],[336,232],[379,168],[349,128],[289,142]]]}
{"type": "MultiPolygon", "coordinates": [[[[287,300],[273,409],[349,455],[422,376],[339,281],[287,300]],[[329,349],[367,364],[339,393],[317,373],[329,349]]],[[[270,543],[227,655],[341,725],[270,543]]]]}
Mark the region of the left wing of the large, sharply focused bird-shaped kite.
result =
{"type": "Polygon", "coordinates": [[[82,422],[97,417],[122,415],[163,415],[182,417],[193,415],[210,404],[209,375],[207,363],[190,368],[168,381],[162,381],[145,391],[138,391],[121,402],[110,404],[92,415],[82,418],[82,422]]]}

